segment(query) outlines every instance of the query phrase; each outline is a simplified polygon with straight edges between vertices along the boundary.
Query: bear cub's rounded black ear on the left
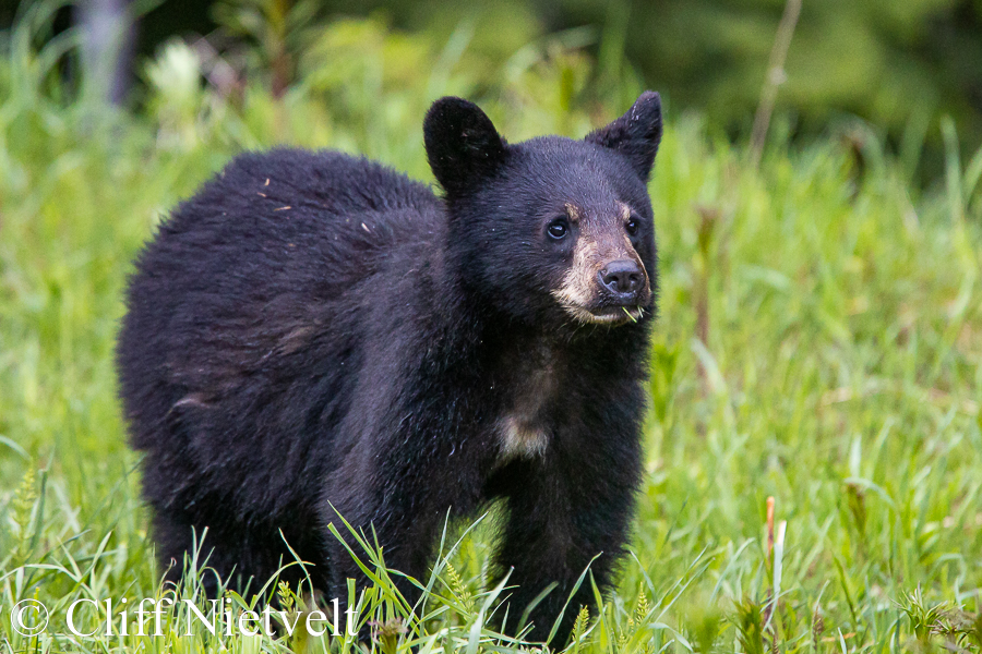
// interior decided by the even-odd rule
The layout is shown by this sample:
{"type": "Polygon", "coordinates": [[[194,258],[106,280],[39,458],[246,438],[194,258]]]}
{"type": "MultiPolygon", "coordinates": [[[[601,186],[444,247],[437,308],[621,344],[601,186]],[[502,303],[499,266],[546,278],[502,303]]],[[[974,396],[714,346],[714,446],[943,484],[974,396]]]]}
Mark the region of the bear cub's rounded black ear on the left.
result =
{"type": "Polygon", "coordinates": [[[460,98],[440,98],[423,121],[427,159],[448,197],[465,194],[493,175],[505,142],[480,108],[460,98]]]}

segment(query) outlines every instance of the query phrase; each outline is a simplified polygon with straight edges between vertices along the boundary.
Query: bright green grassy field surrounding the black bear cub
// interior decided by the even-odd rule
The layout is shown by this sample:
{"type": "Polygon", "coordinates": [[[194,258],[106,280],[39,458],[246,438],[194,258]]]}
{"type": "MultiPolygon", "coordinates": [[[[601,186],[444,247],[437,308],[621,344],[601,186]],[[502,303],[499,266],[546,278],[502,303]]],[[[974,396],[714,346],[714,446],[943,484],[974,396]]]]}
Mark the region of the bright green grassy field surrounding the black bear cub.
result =
{"type": "MultiPolygon", "coordinates": [[[[68,45],[37,50],[29,31],[10,35],[0,63],[3,652],[357,647],[211,635],[200,622],[181,635],[185,616],[172,613],[160,637],[70,632],[76,600],[111,598],[118,611],[122,597],[164,592],[115,397],[130,261],[169,207],[242,149],[338,147],[430,180],[420,124],[443,94],[480,99],[513,141],[580,136],[640,90],[608,80],[604,102],[578,100],[591,78],[580,37],[531,44],[488,71],[468,60],[466,29],[433,45],[342,23],[278,98],[259,83],[235,96],[201,88],[193,53],[175,45],[147,66],[145,107],[121,112],[84,94],[65,99],[51,70],[68,45]],[[12,628],[25,598],[51,614],[41,634],[12,628]]],[[[698,116],[668,111],[650,186],[661,294],[647,474],[619,591],[590,608],[571,651],[979,652],[982,154],[959,156],[943,122],[947,177],[919,191],[908,183],[915,140],[894,156],[857,125],[849,138],[791,147],[778,124],[754,168],[698,116]]],[[[421,580],[431,584],[423,610],[375,647],[518,646],[483,628],[493,530],[452,548],[457,535],[421,580]]],[[[233,597],[236,610],[250,600],[233,597]]],[[[406,615],[384,574],[366,603],[366,619],[406,615]]],[[[76,626],[98,627],[91,605],[76,626]]]]}

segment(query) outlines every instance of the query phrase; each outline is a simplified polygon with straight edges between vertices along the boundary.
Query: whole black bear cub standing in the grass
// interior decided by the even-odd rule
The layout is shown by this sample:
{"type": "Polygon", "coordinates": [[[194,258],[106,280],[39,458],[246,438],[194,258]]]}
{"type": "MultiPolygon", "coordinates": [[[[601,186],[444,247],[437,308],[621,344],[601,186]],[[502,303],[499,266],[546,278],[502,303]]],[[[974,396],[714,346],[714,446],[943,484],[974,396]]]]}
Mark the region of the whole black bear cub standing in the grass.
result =
{"type": "Polygon", "coordinates": [[[514,631],[555,584],[528,638],[563,614],[562,645],[640,479],[661,102],[508,144],[447,97],[423,134],[441,196],[338,153],[246,154],[140,255],[118,365],[157,553],[178,579],[207,528],[208,566],[255,590],[286,541],[344,602],[363,578],[338,514],[426,579],[447,516],[501,498],[495,615],[514,631]]]}

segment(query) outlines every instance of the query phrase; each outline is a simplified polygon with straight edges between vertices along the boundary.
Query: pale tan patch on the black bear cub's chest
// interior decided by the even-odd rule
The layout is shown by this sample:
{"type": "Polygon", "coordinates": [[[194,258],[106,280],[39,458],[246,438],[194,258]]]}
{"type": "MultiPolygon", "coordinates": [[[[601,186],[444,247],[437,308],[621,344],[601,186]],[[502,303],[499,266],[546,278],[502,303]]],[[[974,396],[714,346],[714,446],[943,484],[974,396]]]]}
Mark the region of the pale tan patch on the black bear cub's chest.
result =
{"type": "Polygon", "coordinates": [[[512,401],[511,411],[499,424],[501,458],[531,459],[541,457],[549,447],[546,404],[555,390],[551,364],[536,367],[526,377],[512,401]]]}

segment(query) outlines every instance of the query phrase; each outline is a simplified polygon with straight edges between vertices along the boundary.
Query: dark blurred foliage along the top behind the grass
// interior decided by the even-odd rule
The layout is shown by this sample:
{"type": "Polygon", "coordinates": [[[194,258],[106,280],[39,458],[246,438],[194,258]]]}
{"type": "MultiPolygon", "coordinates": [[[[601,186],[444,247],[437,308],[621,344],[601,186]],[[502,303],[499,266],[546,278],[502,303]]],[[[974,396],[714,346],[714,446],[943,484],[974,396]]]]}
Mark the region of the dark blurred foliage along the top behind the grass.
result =
{"type": "MultiPolygon", "coordinates": [[[[783,0],[82,0],[62,10],[53,28],[84,22],[94,9],[103,20],[113,12],[135,19],[115,93],[139,101],[142,61],[175,36],[204,37],[223,53],[259,45],[268,57],[253,61],[252,73],[270,64],[274,86],[284,88],[296,73],[290,52],[342,16],[373,16],[438,40],[464,25],[474,33],[469,49],[489,64],[537,37],[586,27],[584,51],[599,64],[588,93],[603,94],[612,86],[603,78],[626,73],[662,90],[674,110],[697,109],[739,140],[750,134],[783,7],[783,0]],[[136,93],[127,94],[133,82],[136,93]]],[[[4,23],[16,13],[16,0],[0,2],[4,23]]],[[[805,0],[785,70],[777,111],[798,140],[829,131],[855,138],[859,118],[877,125],[898,153],[924,147],[905,155],[918,161],[921,182],[941,170],[941,116],[954,119],[963,150],[982,143],[982,0],[805,0]]]]}

